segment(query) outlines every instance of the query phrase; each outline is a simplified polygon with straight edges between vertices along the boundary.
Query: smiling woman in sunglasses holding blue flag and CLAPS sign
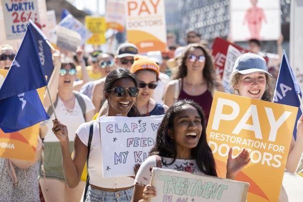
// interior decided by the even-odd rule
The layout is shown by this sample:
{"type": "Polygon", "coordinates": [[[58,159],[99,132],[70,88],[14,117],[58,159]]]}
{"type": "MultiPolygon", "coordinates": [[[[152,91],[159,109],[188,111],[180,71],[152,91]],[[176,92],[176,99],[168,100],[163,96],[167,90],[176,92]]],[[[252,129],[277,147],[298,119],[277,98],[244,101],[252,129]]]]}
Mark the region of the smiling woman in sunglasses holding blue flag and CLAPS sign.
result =
{"type": "MultiPolygon", "coordinates": [[[[135,75],[129,70],[118,68],[111,71],[104,83],[104,97],[108,101],[108,113],[105,116],[140,116],[135,105],[139,89],[135,75]]],[[[58,120],[53,120],[53,132],[61,143],[63,167],[66,183],[70,188],[78,185],[89,152],[89,187],[86,202],[130,202],[134,179],[131,177],[103,178],[101,159],[100,117],[93,123],[92,139],[88,151],[90,123],[82,124],[76,131],[73,158],[69,154],[68,128],[58,120]]]]}

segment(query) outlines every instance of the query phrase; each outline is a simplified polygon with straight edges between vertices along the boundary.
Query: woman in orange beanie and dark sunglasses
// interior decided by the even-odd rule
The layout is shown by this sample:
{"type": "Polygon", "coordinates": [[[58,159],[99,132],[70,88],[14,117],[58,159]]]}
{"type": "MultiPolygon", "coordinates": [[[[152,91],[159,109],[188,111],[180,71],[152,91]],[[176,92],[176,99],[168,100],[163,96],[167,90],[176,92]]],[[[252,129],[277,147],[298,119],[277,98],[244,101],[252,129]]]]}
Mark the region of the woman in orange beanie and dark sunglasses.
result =
{"type": "Polygon", "coordinates": [[[146,56],[135,55],[134,60],[130,71],[137,76],[139,82],[137,106],[142,116],[163,115],[168,107],[152,99],[159,79],[159,67],[146,56]]]}

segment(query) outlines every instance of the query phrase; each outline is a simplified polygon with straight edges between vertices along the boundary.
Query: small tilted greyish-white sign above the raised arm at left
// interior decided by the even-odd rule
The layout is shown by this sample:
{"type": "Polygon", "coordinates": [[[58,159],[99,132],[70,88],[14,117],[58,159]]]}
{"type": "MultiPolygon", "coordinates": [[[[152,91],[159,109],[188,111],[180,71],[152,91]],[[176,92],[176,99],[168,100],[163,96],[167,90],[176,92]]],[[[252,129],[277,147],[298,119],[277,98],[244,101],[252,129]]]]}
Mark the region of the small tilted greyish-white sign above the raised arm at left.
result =
{"type": "Polygon", "coordinates": [[[81,44],[81,36],[68,28],[57,26],[57,47],[69,51],[76,51],[77,46],[81,44]]]}

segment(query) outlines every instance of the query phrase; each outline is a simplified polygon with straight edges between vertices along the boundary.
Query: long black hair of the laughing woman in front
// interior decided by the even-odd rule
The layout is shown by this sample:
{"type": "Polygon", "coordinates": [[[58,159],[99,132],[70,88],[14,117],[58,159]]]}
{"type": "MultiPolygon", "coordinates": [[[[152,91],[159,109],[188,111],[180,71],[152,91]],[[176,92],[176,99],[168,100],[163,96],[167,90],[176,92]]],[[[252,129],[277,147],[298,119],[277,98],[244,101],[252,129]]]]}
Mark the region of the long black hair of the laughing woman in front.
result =
{"type": "Polygon", "coordinates": [[[199,116],[201,117],[202,134],[197,146],[191,150],[191,155],[196,160],[200,171],[202,171],[206,175],[218,176],[216,172],[215,159],[212,150],[207,144],[206,140],[205,116],[200,105],[192,100],[179,100],[175,102],[171,107],[169,107],[169,109],[164,115],[164,118],[157,132],[156,142],[153,148],[151,149],[150,156],[159,155],[162,157],[174,159],[170,164],[167,164],[162,160],[162,163],[164,165],[171,165],[176,160],[177,151],[173,140],[168,135],[168,129],[173,128],[174,118],[179,112],[182,111],[183,105],[193,106],[194,108],[196,108],[199,116]]]}

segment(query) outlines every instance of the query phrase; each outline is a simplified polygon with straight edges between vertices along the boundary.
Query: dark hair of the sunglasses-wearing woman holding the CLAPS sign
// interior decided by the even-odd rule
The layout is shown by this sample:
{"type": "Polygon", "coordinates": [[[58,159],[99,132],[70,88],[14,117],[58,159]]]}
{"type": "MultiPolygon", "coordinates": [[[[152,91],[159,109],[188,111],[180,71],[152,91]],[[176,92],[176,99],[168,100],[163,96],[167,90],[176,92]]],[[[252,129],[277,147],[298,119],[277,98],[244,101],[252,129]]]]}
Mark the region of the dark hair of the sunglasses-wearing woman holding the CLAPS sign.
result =
{"type": "MultiPolygon", "coordinates": [[[[136,80],[136,76],[132,74],[128,69],[126,68],[117,68],[113,71],[111,71],[105,78],[105,83],[104,83],[104,89],[103,89],[103,94],[105,92],[110,92],[113,86],[115,85],[116,81],[121,79],[121,78],[130,78],[134,81],[135,86],[138,87],[138,82],[136,80]]],[[[105,96],[104,96],[105,97],[105,96]]],[[[110,105],[110,103],[108,103],[110,105]]],[[[130,111],[127,114],[128,117],[139,117],[140,112],[137,108],[136,102],[130,109],[130,111]]]]}

